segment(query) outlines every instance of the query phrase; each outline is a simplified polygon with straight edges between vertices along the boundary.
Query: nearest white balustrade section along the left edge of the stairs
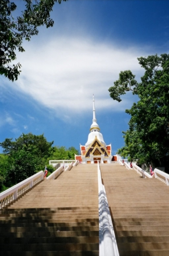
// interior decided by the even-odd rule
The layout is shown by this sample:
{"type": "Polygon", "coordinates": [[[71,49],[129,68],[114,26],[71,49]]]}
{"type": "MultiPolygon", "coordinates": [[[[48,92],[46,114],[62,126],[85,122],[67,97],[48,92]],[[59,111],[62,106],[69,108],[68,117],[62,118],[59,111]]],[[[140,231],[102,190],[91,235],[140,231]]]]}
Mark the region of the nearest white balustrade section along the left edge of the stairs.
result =
{"type": "Polygon", "coordinates": [[[21,196],[28,189],[35,186],[39,183],[44,177],[44,172],[40,171],[31,177],[21,181],[20,183],[14,185],[12,188],[7,189],[0,193],[0,209],[7,206],[13,200],[16,200],[19,196],[21,196]]]}

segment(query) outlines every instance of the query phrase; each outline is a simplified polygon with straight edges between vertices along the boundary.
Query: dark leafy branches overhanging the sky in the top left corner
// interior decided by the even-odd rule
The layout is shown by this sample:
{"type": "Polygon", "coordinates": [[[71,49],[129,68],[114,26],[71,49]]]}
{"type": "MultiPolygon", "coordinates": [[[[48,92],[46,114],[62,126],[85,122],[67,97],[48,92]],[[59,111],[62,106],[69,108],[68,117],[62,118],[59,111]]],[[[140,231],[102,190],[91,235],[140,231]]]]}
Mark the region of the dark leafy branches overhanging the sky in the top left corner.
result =
{"type": "MultiPolygon", "coordinates": [[[[24,0],[25,10],[21,16],[14,18],[16,4],[10,0],[0,0],[0,75],[9,80],[17,80],[21,72],[21,64],[12,64],[16,59],[16,51],[24,52],[23,39],[30,40],[38,34],[38,27],[52,27],[50,18],[55,2],[61,0],[24,0]]],[[[66,0],[63,0],[66,1],[66,0]]]]}

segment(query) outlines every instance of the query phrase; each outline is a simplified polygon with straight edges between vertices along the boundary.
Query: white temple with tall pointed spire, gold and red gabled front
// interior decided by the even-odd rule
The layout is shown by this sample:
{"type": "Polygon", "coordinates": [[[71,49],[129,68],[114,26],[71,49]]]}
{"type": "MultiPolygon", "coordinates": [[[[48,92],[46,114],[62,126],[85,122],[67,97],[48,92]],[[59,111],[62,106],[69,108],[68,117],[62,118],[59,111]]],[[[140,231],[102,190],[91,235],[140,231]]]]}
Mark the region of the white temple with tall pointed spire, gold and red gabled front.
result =
{"type": "Polygon", "coordinates": [[[93,95],[93,122],[85,146],[80,144],[81,155],[75,155],[75,160],[82,163],[111,163],[117,161],[117,156],[111,155],[111,144],[106,145],[103,135],[100,133],[95,112],[95,99],[93,95]]]}

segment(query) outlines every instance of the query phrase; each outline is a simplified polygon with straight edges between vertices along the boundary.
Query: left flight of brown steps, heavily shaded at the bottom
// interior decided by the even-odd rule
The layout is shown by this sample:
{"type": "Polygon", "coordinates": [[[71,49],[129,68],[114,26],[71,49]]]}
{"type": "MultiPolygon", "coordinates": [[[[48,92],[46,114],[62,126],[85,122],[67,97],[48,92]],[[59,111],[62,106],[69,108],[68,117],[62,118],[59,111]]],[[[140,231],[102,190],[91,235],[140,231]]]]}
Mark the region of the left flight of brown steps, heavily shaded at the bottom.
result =
{"type": "Polygon", "coordinates": [[[2,256],[98,256],[97,165],[44,180],[0,210],[2,256]]]}

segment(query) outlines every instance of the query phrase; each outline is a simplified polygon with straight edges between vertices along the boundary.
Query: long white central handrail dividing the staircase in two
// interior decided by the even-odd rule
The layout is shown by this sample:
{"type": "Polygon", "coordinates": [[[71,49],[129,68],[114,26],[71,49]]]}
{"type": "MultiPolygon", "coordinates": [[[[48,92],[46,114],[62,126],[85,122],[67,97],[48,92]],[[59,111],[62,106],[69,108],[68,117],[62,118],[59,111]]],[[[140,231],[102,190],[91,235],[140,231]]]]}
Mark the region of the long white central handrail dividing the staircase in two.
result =
{"type": "Polygon", "coordinates": [[[101,180],[99,162],[98,174],[98,212],[99,212],[99,256],[119,256],[114,229],[109,212],[106,191],[101,180]]]}

